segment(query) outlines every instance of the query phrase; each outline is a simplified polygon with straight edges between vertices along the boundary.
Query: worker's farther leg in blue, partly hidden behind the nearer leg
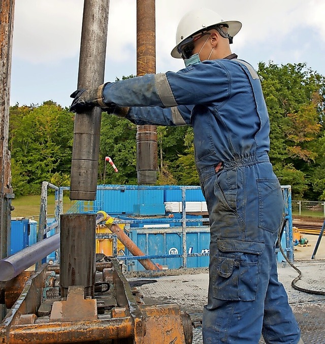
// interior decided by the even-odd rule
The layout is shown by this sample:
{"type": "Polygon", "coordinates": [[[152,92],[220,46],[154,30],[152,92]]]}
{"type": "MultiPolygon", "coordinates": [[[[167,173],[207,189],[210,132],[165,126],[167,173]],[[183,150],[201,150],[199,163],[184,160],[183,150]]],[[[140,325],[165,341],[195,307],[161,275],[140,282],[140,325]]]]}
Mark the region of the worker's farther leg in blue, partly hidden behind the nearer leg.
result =
{"type": "Polygon", "coordinates": [[[267,344],[297,343],[300,336],[300,329],[288,304],[287,294],[278,281],[275,255],[265,298],[262,333],[267,344]]]}

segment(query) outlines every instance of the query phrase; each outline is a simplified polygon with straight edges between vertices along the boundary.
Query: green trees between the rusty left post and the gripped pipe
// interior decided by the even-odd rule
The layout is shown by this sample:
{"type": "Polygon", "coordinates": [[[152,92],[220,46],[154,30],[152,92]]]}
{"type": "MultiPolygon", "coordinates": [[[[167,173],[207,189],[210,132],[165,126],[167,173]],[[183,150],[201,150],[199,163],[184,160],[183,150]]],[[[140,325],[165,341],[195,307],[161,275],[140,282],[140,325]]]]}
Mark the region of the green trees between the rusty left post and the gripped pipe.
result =
{"type": "Polygon", "coordinates": [[[14,164],[13,187],[38,194],[41,183],[70,174],[74,115],[52,101],[10,109],[9,146],[14,164]],[[20,177],[16,174],[20,174],[20,177]],[[23,177],[24,184],[16,184],[23,177]]]}

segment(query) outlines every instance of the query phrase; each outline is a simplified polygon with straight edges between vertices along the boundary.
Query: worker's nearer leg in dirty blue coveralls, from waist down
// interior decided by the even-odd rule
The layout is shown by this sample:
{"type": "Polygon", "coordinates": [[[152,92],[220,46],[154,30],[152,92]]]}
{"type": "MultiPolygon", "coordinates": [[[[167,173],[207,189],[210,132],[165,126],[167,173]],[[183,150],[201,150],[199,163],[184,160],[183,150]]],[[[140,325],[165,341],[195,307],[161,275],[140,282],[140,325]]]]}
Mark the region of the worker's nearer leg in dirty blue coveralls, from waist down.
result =
{"type": "MultiPolygon", "coordinates": [[[[204,343],[257,344],[283,211],[279,183],[270,164],[256,164],[225,169],[202,185],[211,232],[204,343]]],[[[274,332],[281,333],[277,326],[274,332]]],[[[297,344],[297,327],[287,330],[287,341],[280,342],[297,344]]]]}

